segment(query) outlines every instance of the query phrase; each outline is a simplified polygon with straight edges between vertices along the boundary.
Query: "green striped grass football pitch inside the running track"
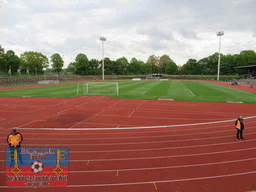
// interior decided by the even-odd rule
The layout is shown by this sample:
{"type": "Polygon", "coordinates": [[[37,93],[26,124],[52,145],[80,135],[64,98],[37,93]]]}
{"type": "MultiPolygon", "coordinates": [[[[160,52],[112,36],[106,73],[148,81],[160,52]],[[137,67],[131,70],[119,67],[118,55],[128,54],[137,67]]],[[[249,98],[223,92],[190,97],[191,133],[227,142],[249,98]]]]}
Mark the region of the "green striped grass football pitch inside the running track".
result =
{"type": "MultiPolygon", "coordinates": [[[[116,86],[89,86],[86,83],[62,84],[58,86],[38,87],[1,91],[1,97],[76,97],[81,95],[109,95],[111,98],[159,99],[172,98],[186,101],[227,102],[240,101],[256,103],[256,94],[212,84],[204,81],[104,81],[118,82],[116,86]],[[77,92],[78,90],[78,92],[77,92]],[[78,94],[77,94],[78,93],[78,94]],[[99,94],[101,93],[101,94],[99,94]]],[[[101,84],[100,82],[98,83],[101,84]]],[[[95,85],[98,85],[97,83],[95,85]]],[[[103,83],[102,83],[103,84],[103,83]]]]}

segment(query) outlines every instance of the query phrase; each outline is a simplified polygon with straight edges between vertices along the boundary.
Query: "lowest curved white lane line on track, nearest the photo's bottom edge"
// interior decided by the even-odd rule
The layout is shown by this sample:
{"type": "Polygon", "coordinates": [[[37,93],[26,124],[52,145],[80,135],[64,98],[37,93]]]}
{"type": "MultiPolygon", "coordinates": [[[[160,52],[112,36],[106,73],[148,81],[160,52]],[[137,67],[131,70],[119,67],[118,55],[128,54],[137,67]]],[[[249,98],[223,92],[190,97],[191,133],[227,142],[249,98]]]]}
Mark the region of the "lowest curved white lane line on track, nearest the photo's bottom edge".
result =
{"type": "MultiPolygon", "coordinates": [[[[138,184],[152,184],[152,183],[170,183],[170,182],[179,182],[179,181],[193,181],[193,180],[202,180],[202,179],[214,179],[214,178],[223,178],[223,177],[231,177],[231,176],[240,176],[240,175],[248,175],[254,174],[255,172],[246,172],[239,174],[230,174],[230,175],[220,175],[220,176],[212,176],[212,177],[199,177],[199,178],[189,178],[189,179],[178,179],[178,180],[164,180],[164,181],[148,181],[148,182],[137,182],[137,183],[113,183],[113,184],[91,184],[91,185],[68,185],[67,187],[92,187],[92,186],[119,186],[119,185],[138,185],[138,184]]],[[[10,186],[0,186],[0,188],[17,188],[10,186]]]]}

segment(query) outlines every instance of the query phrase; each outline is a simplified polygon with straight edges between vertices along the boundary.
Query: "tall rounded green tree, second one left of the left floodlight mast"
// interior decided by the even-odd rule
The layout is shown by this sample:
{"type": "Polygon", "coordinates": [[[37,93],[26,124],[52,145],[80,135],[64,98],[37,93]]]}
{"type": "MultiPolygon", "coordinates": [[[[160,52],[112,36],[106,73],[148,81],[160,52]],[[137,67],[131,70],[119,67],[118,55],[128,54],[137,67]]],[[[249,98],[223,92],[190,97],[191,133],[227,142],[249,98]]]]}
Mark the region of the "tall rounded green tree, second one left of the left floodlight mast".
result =
{"type": "Polygon", "coordinates": [[[75,67],[77,74],[88,75],[89,74],[89,60],[86,54],[79,53],[75,58],[75,67]]]}

